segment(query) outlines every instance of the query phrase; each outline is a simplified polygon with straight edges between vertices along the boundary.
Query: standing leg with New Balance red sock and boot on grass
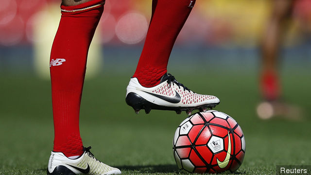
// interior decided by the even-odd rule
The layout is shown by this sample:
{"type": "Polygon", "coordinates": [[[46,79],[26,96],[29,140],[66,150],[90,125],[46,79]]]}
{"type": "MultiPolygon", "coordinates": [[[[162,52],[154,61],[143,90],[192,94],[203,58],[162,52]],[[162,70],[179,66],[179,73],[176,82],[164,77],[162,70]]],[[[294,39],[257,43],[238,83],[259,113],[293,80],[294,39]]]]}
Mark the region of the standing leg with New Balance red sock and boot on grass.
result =
{"type": "Polygon", "coordinates": [[[54,147],[47,173],[51,175],[121,173],[92,158],[89,148],[82,144],[79,131],[86,58],[104,2],[64,0],[61,5],[62,17],[50,58],[54,147]]]}

